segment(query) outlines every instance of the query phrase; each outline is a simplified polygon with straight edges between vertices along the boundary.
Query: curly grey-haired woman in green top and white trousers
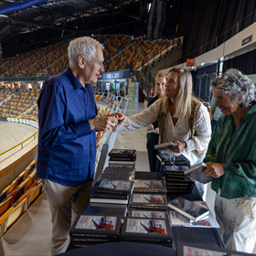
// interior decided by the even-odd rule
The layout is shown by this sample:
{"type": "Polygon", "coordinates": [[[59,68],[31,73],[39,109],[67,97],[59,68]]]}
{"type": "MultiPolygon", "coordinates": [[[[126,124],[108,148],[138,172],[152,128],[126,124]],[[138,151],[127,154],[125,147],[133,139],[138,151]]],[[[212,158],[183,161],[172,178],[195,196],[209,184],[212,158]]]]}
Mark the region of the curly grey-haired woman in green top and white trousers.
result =
{"type": "Polygon", "coordinates": [[[238,69],[211,81],[219,118],[204,162],[213,176],[215,212],[227,249],[253,251],[256,240],[256,105],[254,84],[238,69]]]}

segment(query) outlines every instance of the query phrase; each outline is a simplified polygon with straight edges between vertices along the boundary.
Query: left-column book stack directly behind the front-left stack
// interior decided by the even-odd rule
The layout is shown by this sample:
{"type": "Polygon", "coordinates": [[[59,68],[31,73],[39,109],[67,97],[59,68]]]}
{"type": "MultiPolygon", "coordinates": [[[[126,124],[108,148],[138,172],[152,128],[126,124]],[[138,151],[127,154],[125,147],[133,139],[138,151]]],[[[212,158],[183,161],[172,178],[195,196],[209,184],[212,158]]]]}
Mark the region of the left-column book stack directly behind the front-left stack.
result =
{"type": "Polygon", "coordinates": [[[123,175],[101,174],[91,189],[90,203],[127,205],[134,186],[133,171],[127,170],[123,175]]]}

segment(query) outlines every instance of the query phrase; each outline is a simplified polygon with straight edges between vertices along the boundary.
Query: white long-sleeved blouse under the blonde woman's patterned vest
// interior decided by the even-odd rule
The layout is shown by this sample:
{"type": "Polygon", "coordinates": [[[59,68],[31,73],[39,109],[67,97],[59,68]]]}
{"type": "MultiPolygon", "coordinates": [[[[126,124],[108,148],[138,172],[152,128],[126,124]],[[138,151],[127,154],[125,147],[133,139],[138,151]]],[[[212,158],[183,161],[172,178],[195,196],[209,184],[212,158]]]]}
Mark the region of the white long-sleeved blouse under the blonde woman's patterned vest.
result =
{"type": "MultiPolygon", "coordinates": [[[[135,129],[146,127],[150,123],[154,123],[157,120],[159,109],[160,100],[155,101],[144,111],[127,117],[125,123],[123,123],[123,130],[133,131],[135,129]]],[[[176,125],[174,125],[171,114],[168,112],[165,119],[165,130],[163,134],[163,143],[171,141],[187,143],[187,148],[185,148],[181,154],[187,157],[190,161],[190,165],[197,163],[198,157],[193,150],[206,149],[210,140],[211,128],[209,113],[207,107],[203,104],[201,104],[201,107],[197,112],[195,125],[197,135],[192,139],[189,139],[188,119],[179,118],[176,125]]]]}

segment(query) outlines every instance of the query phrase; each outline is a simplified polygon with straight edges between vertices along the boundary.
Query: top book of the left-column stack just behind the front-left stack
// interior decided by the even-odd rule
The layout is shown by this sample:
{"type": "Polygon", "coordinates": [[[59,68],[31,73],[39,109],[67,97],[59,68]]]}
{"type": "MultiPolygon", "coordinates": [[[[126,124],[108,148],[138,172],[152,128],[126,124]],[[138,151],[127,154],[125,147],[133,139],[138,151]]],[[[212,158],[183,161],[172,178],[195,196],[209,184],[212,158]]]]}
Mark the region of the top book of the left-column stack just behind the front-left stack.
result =
{"type": "Polygon", "coordinates": [[[93,189],[95,193],[131,195],[131,192],[133,191],[133,185],[133,181],[100,178],[95,183],[93,189]]]}

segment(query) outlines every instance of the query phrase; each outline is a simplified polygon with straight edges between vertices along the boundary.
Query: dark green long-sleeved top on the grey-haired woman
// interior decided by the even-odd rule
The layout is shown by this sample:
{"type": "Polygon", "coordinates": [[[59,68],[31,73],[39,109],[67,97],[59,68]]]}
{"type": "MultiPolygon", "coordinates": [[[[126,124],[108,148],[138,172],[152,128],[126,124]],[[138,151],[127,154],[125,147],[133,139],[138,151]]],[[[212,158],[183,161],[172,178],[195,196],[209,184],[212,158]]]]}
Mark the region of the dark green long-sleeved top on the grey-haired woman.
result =
{"type": "Polygon", "coordinates": [[[215,126],[205,163],[223,164],[225,174],[212,181],[220,197],[256,197],[256,105],[240,119],[234,131],[233,116],[222,115],[215,126]]]}

